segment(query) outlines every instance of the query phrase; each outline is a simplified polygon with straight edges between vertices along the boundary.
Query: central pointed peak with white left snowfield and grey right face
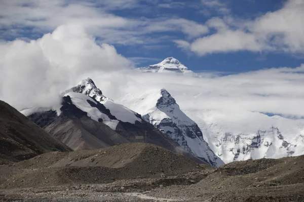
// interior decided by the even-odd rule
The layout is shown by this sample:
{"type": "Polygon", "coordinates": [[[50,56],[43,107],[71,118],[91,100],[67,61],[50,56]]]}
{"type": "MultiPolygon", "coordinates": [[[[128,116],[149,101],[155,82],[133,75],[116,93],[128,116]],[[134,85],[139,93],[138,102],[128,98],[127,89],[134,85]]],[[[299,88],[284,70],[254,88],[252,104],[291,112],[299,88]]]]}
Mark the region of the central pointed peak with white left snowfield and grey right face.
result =
{"type": "Polygon", "coordinates": [[[146,91],[135,99],[132,94],[127,94],[121,102],[128,103],[128,107],[140,113],[144,120],[166,133],[193,155],[213,166],[223,164],[204,140],[198,125],[179,109],[167,90],[146,91]],[[129,102],[130,100],[132,101],[129,102]]]}

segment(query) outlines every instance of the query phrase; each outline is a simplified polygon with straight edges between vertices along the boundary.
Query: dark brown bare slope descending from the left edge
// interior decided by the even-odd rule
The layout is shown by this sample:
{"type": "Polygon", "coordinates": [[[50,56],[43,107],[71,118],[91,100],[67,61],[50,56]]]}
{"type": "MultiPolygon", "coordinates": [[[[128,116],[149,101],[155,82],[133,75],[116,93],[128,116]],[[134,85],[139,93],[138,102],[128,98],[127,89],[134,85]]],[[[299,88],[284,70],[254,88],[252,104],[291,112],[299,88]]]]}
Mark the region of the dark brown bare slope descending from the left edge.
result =
{"type": "Polygon", "coordinates": [[[71,149],[0,100],[0,163],[71,149]]]}

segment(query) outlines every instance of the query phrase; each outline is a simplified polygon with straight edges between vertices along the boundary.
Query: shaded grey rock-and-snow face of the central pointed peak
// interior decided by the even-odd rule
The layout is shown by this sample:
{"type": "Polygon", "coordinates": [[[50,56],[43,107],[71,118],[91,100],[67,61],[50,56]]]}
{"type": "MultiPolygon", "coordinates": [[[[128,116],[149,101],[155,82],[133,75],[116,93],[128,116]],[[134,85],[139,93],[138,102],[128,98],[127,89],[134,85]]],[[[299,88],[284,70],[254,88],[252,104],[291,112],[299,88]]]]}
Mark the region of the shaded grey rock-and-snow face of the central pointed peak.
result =
{"type": "Polygon", "coordinates": [[[176,100],[166,89],[161,89],[160,94],[161,96],[156,103],[156,112],[163,113],[168,118],[158,120],[158,117],[148,113],[143,116],[143,119],[163,131],[194,156],[212,166],[222,165],[223,162],[213,153],[204,140],[199,126],[180,110],[176,100]]]}

